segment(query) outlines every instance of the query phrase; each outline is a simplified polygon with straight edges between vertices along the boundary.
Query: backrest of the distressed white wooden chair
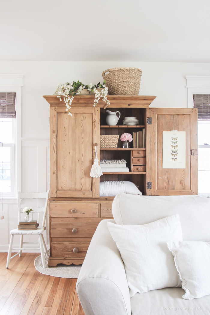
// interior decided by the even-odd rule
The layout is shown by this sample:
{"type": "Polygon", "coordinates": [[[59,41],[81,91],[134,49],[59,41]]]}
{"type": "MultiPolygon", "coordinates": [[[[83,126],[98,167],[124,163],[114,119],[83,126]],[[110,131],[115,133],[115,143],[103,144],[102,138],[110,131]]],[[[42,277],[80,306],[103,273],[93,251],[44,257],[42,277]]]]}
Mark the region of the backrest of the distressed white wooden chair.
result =
{"type": "MultiPolygon", "coordinates": [[[[47,208],[48,208],[48,199],[49,199],[49,190],[47,192],[18,192],[18,221],[21,221],[21,213],[24,208],[21,208],[21,199],[45,199],[44,207],[32,207],[32,213],[38,213],[38,223],[39,223],[39,213],[43,212],[43,221],[42,226],[45,225],[47,208]]],[[[31,205],[29,204],[29,207],[31,205]]],[[[41,226],[41,225],[40,225],[41,226]]]]}

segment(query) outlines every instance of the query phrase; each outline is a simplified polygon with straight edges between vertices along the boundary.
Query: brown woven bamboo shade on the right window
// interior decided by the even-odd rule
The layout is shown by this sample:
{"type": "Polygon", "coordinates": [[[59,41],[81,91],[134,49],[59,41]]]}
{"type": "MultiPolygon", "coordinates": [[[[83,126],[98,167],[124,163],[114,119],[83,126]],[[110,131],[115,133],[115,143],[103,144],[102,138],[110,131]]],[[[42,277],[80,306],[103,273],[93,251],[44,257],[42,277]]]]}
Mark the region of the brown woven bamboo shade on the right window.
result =
{"type": "Polygon", "coordinates": [[[210,94],[193,94],[193,103],[198,109],[198,120],[210,120],[210,94]]]}

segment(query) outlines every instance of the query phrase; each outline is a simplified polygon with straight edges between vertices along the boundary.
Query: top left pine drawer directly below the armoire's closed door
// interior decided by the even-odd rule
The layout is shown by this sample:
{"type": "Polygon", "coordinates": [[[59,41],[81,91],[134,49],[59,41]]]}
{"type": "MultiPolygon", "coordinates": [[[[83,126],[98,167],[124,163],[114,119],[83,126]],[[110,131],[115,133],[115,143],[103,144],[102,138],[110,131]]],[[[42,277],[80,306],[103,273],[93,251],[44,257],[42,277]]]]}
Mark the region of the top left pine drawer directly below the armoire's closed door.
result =
{"type": "Polygon", "coordinates": [[[49,215],[53,218],[97,218],[98,203],[50,203],[49,215]]]}

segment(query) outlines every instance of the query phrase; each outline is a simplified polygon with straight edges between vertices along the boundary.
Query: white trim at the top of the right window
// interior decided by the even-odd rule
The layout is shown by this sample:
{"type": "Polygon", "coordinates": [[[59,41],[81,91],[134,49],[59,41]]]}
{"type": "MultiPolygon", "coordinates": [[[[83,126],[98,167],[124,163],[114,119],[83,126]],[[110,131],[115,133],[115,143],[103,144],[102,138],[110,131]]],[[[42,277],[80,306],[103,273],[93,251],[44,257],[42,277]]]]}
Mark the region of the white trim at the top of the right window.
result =
{"type": "Polygon", "coordinates": [[[187,107],[193,108],[193,94],[210,94],[210,76],[186,76],[187,107]]]}

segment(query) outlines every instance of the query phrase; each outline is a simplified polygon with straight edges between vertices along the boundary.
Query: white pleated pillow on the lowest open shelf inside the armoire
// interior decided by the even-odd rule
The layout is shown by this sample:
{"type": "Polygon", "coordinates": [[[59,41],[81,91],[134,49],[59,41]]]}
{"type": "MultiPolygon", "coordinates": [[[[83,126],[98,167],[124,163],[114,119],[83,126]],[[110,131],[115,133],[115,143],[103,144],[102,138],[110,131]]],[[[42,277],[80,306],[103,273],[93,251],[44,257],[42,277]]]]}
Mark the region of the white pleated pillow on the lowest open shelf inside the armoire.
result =
{"type": "Polygon", "coordinates": [[[116,196],[120,192],[131,195],[141,195],[140,190],[131,181],[114,180],[100,182],[100,197],[116,196]]]}

